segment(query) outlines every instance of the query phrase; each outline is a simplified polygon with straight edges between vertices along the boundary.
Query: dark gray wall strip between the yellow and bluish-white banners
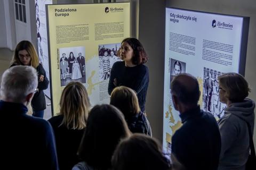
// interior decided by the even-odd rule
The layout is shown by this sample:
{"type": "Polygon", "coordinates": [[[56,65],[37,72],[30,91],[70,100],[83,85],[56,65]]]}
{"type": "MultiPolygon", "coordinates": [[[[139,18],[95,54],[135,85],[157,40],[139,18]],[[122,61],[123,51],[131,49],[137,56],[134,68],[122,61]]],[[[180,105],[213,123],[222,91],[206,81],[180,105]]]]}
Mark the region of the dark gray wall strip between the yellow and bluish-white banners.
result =
{"type": "Polygon", "coordinates": [[[163,138],[165,0],[140,0],[139,40],[149,56],[146,113],[153,136],[163,138]]]}

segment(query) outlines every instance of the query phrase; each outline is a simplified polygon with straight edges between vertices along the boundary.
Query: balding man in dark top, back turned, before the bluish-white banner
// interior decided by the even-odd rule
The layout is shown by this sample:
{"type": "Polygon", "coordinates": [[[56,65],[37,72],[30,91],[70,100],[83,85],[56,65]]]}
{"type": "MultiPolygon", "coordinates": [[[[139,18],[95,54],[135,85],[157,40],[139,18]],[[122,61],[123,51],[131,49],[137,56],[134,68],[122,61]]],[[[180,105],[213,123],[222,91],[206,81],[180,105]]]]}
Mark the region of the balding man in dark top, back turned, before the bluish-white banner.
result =
{"type": "Polygon", "coordinates": [[[197,79],[187,73],[177,75],[171,82],[171,94],[183,124],[172,137],[173,168],[217,169],[219,127],[213,115],[197,104],[201,94],[197,79]]]}

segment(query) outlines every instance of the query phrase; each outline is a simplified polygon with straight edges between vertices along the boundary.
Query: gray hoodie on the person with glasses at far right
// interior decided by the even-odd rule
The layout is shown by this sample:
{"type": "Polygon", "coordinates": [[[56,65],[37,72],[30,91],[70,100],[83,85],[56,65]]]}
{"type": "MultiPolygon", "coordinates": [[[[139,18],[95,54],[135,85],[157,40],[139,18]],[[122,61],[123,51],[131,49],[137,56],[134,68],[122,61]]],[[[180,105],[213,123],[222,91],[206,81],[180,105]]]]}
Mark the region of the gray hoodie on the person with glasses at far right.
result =
{"type": "Polygon", "coordinates": [[[233,103],[225,109],[218,121],[221,134],[219,170],[245,169],[249,156],[249,131],[246,122],[254,128],[254,107],[251,99],[233,103]]]}

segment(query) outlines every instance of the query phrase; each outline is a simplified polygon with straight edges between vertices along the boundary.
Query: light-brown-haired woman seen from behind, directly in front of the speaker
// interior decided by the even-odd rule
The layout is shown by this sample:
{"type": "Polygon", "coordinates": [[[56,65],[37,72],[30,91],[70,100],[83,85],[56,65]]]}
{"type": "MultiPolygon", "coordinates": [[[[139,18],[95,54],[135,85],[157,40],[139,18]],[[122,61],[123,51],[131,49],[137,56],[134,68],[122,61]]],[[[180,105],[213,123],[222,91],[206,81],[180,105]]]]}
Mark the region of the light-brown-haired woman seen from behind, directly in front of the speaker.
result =
{"type": "Polygon", "coordinates": [[[110,105],[117,107],[125,117],[132,133],[151,134],[149,121],[140,110],[137,95],[129,87],[119,86],[111,92],[110,105]]]}

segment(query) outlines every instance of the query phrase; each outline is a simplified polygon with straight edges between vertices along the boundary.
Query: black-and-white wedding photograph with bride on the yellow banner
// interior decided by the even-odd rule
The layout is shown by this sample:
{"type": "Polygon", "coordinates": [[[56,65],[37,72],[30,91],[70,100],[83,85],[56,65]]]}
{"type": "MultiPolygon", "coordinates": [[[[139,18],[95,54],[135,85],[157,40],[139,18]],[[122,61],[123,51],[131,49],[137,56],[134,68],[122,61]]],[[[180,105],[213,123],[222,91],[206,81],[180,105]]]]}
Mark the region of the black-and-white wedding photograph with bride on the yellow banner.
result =
{"type": "Polygon", "coordinates": [[[61,87],[70,81],[86,83],[84,46],[60,48],[59,59],[61,87]]]}

